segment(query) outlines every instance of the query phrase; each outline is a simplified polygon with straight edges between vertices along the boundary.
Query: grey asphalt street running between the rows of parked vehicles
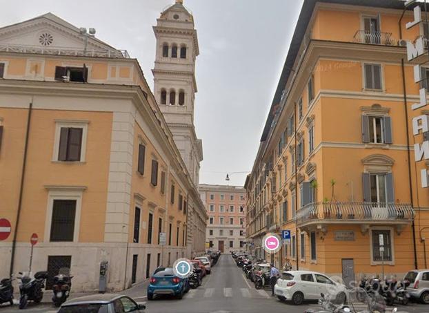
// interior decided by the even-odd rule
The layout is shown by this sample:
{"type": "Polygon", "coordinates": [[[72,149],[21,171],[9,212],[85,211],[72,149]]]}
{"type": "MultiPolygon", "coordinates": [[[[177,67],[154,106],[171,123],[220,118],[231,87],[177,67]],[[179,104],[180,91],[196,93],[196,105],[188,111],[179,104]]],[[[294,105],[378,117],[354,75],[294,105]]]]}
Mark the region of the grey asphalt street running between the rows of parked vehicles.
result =
{"type": "MultiPolygon", "coordinates": [[[[143,287],[138,290],[137,294],[141,295],[137,301],[146,302],[147,310],[145,312],[148,313],[303,313],[308,308],[316,311],[320,308],[315,302],[298,306],[288,302],[283,303],[270,296],[271,291],[268,287],[266,290],[255,290],[254,285],[243,276],[243,271],[235,265],[229,255],[221,256],[217,265],[212,267],[212,274],[203,279],[203,285],[195,290],[190,290],[181,300],[163,296],[148,301],[143,295],[143,287]]],[[[398,312],[429,312],[429,305],[417,303],[397,307],[398,312]]],[[[365,309],[365,306],[357,305],[355,309],[360,312],[365,309]]],[[[391,312],[391,309],[387,312],[391,312]]],[[[30,304],[24,311],[18,310],[17,305],[0,307],[0,313],[12,312],[53,313],[56,310],[50,303],[30,304]]]]}

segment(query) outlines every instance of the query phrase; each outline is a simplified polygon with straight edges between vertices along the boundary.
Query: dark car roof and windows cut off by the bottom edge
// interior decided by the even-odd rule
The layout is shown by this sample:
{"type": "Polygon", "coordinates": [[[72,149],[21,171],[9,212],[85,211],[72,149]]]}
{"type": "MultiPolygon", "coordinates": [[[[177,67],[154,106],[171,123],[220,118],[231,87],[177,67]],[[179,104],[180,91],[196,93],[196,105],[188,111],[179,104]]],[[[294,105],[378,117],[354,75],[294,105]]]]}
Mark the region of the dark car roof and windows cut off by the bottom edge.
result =
{"type": "Polygon", "coordinates": [[[132,300],[129,296],[119,294],[94,294],[81,296],[68,300],[61,305],[58,313],[117,313],[117,312],[143,312],[146,306],[132,300]]]}

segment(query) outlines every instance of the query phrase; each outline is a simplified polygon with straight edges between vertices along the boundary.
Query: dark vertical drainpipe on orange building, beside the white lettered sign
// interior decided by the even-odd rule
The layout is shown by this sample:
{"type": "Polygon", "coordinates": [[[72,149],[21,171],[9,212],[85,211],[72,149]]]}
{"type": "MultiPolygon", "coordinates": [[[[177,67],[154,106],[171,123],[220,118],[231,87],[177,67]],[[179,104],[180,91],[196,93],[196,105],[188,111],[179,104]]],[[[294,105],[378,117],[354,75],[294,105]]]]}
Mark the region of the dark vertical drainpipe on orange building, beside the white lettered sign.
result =
{"type": "MultiPolygon", "coordinates": [[[[426,1],[425,1],[426,2],[426,1]]],[[[402,15],[399,18],[399,40],[402,40],[402,26],[401,21],[403,15],[405,14],[406,9],[402,11],[402,15]]],[[[401,59],[401,74],[402,74],[402,88],[403,88],[403,110],[405,113],[405,125],[406,125],[406,133],[407,133],[407,153],[408,153],[408,187],[410,189],[410,200],[411,207],[414,208],[414,200],[412,195],[412,179],[411,179],[411,151],[410,151],[410,127],[408,126],[408,103],[407,103],[407,89],[406,89],[406,78],[405,78],[405,64],[403,58],[401,59]]],[[[414,266],[416,269],[419,268],[417,263],[417,247],[416,247],[416,227],[414,218],[412,219],[412,245],[414,249],[414,266]]]]}

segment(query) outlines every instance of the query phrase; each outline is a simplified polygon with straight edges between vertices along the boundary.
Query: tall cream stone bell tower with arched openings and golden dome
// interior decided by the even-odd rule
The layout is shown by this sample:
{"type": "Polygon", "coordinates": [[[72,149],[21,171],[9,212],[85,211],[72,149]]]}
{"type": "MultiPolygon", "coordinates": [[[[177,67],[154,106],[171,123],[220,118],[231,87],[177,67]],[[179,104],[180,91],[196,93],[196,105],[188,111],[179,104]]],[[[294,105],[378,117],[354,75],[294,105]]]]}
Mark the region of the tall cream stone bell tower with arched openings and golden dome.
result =
{"type": "Polygon", "coordinates": [[[154,96],[192,181],[198,186],[203,151],[194,128],[195,61],[199,55],[194,17],[183,6],[183,0],[176,0],[161,12],[153,30],[157,38],[152,70],[154,96]]]}

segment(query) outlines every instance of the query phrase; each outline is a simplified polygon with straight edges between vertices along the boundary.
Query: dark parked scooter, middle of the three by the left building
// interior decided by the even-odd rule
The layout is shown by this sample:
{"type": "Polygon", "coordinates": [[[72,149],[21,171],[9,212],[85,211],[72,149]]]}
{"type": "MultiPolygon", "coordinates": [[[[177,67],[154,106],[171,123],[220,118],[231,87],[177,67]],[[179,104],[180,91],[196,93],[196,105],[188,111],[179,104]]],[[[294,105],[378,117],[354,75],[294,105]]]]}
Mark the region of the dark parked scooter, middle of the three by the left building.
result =
{"type": "Polygon", "coordinates": [[[37,272],[32,273],[19,272],[19,309],[25,309],[28,301],[34,301],[34,303],[40,303],[43,298],[43,288],[45,287],[46,278],[48,278],[48,272],[37,272]]]}

